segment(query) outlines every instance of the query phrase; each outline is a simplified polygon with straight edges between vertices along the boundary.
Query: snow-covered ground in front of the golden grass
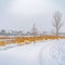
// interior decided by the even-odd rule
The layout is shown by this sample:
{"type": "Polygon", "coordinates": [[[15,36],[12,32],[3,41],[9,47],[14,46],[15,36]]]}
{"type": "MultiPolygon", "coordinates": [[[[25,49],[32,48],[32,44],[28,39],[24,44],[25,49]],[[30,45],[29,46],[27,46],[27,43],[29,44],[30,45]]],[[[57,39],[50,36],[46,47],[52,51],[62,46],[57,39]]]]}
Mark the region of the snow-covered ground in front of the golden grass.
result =
{"type": "Polygon", "coordinates": [[[0,65],[65,65],[65,39],[0,47],[0,65]]]}

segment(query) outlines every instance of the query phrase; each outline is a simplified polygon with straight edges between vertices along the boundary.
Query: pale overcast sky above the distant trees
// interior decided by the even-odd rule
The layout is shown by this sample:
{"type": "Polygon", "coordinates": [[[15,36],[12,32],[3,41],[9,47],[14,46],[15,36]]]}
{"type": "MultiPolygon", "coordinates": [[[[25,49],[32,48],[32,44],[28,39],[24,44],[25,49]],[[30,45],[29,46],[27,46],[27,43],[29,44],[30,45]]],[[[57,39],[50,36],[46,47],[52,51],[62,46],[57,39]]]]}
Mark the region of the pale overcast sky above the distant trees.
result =
{"type": "Polygon", "coordinates": [[[39,30],[52,30],[55,11],[65,23],[65,0],[0,0],[0,29],[28,31],[36,24],[39,30]]]}

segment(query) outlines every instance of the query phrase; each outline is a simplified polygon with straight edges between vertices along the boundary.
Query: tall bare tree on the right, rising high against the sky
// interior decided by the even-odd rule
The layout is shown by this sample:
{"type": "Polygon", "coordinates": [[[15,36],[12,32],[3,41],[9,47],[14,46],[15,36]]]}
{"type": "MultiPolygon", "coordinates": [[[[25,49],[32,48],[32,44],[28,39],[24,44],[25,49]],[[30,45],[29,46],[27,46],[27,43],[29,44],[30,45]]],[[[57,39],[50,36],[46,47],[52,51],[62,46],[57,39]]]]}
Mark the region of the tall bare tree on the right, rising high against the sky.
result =
{"type": "Polygon", "coordinates": [[[62,20],[62,13],[61,12],[55,12],[53,14],[53,18],[54,18],[54,23],[53,23],[53,27],[55,29],[55,36],[58,37],[58,31],[62,27],[62,23],[61,23],[61,20],[62,20]]]}

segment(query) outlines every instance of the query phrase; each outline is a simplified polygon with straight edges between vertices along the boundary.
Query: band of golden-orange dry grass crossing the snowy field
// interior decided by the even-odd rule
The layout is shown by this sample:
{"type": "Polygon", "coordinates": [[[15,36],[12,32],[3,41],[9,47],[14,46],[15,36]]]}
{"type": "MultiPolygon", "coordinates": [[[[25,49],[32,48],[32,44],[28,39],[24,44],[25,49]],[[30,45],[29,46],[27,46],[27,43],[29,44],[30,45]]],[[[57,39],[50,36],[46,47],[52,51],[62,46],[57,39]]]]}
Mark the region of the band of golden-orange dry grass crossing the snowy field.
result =
{"type": "Polygon", "coordinates": [[[29,43],[32,41],[41,41],[41,40],[48,40],[48,39],[65,39],[65,37],[56,37],[56,36],[40,36],[40,37],[0,37],[0,39],[12,39],[12,40],[6,40],[6,41],[0,41],[0,46],[5,46],[8,43],[18,43],[18,44],[23,44],[23,43],[29,43]]]}

